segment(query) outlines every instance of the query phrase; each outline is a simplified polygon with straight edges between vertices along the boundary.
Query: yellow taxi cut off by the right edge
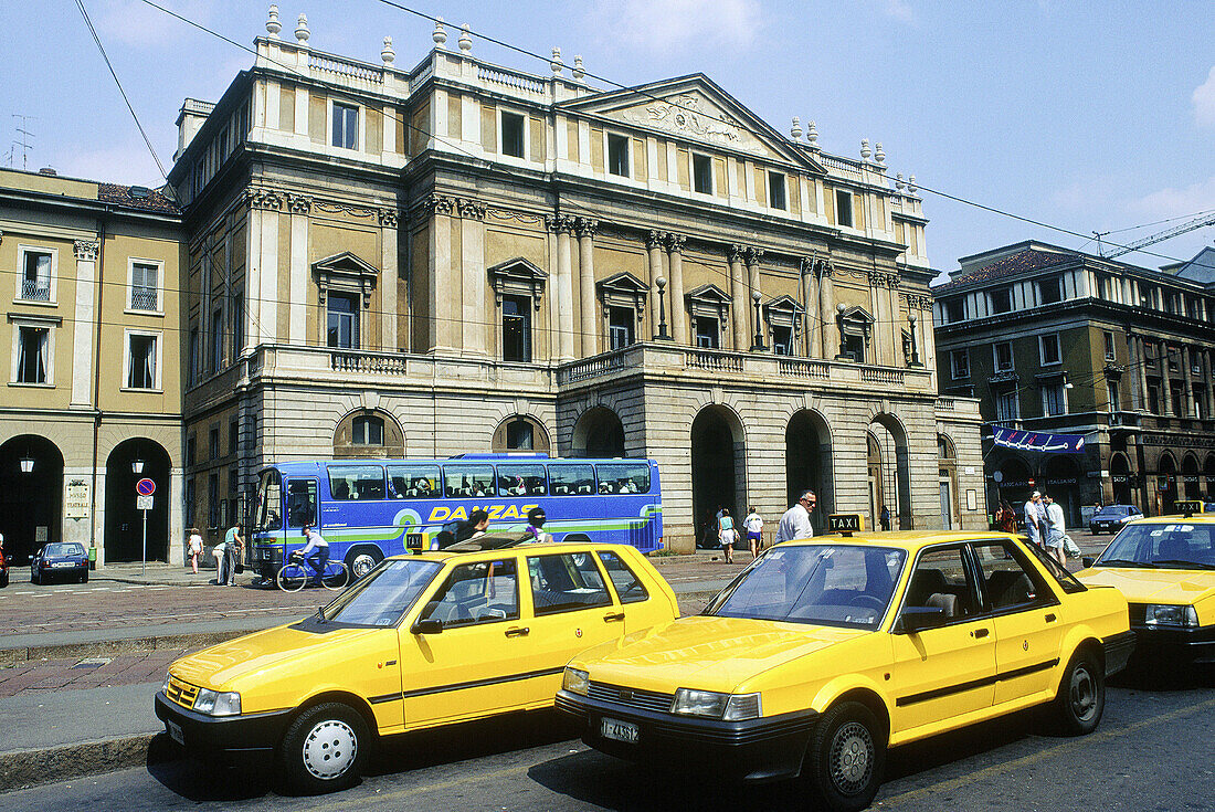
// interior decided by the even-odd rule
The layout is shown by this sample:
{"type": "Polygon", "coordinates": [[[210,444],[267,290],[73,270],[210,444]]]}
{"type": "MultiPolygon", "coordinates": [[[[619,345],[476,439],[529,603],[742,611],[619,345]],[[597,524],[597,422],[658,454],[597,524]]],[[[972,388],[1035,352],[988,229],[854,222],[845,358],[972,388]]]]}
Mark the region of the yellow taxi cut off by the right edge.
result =
{"type": "Polygon", "coordinates": [[[1177,502],[1176,515],[1126,523],[1076,577],[1130,603],[1136,659],[1215,662],[1215,514],[1177,502]]]}

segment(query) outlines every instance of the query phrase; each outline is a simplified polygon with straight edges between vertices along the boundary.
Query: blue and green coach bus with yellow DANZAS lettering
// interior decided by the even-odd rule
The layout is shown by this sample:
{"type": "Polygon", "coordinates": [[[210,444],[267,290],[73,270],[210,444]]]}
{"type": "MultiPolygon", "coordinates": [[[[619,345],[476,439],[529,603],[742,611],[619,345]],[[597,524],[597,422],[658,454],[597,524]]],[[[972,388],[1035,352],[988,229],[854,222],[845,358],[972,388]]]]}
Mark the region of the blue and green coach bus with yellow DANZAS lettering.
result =
{"type": "Polygon", "coordinates": [[[556,459],[468,453],[447,459],[301,459],[262,469],[250,565],[273,579],[318,525],[329,557],[355,577],[385,556],[433,549],[445,525],[490,514],[490,531],[522,531],[535,507],[554,541],[662,547],[662,497],[652,459],[556,459]],[[320,519],[320,521],[318,521],[320,519]]]}

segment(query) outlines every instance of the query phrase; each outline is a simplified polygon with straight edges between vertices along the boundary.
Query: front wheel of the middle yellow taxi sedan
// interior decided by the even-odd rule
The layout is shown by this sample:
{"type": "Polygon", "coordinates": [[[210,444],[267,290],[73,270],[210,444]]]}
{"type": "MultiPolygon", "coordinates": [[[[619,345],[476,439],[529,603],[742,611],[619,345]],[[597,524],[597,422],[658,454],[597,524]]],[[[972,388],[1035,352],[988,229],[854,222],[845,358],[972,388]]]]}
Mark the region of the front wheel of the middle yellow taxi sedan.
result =
{"type": "Polygon", "coordinates": [[[802,778],[830,810],[866,808],[886,767],[886,740],[874,712],[860,703],[841,703],[819,720],[810,737],[802,778]]]}

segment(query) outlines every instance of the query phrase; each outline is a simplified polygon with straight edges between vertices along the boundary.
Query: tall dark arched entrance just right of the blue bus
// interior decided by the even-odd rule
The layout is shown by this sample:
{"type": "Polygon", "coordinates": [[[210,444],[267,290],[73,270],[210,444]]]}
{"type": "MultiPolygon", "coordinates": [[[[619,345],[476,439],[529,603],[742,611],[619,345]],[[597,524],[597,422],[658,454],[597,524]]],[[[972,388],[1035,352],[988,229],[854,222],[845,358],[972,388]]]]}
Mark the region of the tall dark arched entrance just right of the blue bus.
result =
{"type": "Polygon", "coordinates": [[[697,534],[727,507],[739,515],[746,446],[742,425],[724,406],[706,406],[691,423],[691,509],[697,534]]]}

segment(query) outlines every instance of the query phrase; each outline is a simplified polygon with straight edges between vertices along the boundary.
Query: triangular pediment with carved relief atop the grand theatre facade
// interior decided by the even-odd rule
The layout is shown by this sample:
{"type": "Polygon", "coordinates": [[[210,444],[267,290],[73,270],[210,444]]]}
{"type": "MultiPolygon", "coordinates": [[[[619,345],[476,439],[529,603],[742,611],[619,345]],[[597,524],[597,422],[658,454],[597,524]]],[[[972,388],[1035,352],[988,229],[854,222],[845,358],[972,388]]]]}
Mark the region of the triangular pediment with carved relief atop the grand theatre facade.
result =
{"type": "Polygon", "coordinates": [[[583,96],[561,108],[706,147],[825,169],[702,73],[583,96]]]}

